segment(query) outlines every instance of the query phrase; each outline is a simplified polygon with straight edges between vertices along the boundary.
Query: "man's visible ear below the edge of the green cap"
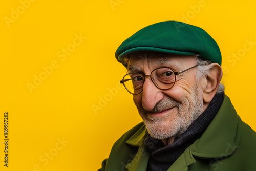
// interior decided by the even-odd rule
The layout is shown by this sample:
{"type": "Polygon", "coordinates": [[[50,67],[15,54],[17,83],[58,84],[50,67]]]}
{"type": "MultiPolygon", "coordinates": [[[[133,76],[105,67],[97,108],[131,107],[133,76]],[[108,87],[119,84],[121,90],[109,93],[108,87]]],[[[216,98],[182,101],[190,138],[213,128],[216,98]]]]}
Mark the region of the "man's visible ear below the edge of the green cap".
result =
{"type": "Polygon", "coordinates": [[[206,75],[206,84],[204,85],[203,100],[208,103],[214,98],[219,83],[222,78],[222,69],[218,63],[211,63],[212,69],[210,73],[206,75]]]}

